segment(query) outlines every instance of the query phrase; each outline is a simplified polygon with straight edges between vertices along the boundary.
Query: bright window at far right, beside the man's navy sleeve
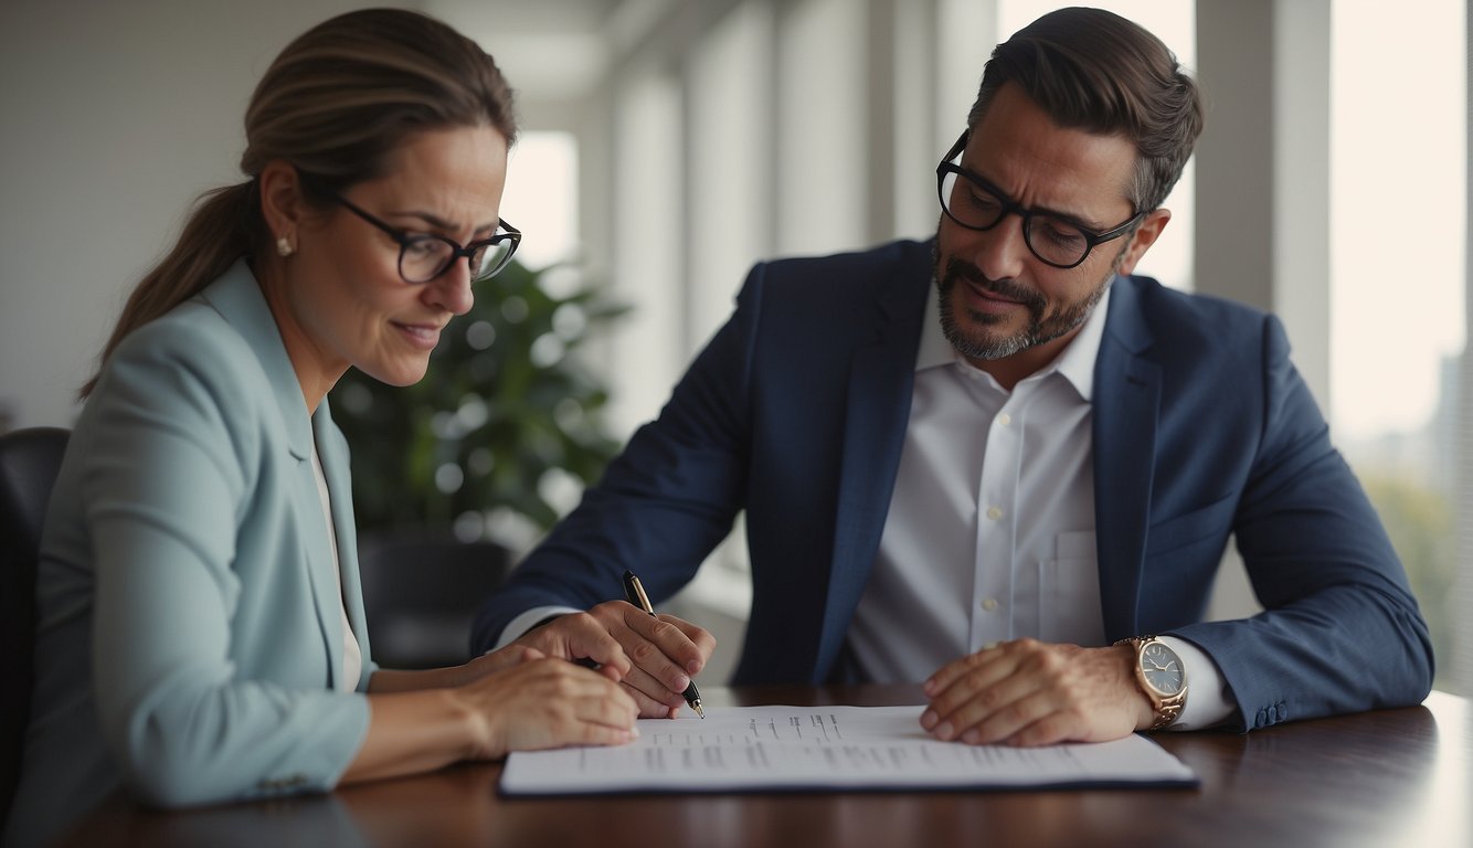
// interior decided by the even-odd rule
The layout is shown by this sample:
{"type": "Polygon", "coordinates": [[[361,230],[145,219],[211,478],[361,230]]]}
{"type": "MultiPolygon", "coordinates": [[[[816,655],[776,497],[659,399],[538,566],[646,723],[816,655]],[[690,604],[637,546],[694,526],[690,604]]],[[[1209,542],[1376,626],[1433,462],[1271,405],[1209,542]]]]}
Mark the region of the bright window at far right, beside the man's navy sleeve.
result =
{"type": "Polygon", "coordinates": [[[1436,685],[1466,692],[1449,662],[1460,618],[1452,389],[1466,340],[1464,9],[1333,6],[1330,421],[1432,627],[1436,685]]]}

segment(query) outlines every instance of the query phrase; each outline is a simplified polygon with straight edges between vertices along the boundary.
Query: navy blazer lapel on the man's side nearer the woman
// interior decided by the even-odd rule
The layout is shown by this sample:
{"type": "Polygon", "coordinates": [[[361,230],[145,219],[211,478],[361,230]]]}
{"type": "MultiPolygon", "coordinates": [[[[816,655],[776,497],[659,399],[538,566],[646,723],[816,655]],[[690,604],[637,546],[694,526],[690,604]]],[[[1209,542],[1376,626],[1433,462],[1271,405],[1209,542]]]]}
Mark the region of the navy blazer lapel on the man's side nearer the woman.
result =
{"type": "MultiPolygon", "coordinates": [[[[927,253],[928,255],[928,253],[927,253]]],[[[834,559],[815,680],[826,676],[869,579],[890,511],[910,417],[916,347],[931,286],[929,265],[906,262],[876,299],[873,336],[854,350],[844,411],[844,439],[834,559]]]]}

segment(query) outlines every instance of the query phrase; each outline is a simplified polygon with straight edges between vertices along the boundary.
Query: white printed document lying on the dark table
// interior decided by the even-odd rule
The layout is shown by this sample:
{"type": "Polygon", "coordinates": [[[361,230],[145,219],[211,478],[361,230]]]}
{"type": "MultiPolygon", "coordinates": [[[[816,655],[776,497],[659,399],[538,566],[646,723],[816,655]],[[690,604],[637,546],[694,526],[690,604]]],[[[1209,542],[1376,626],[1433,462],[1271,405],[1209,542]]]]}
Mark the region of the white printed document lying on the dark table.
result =
{"type": "Polygon", "coordinates": [[[639,720],[617,748],[517,751],[505,795],[813,789],[1192,786],[1196,776],[1145,736],[1006,748],[937,742],[924,707],[729,707],[706,720],[639,720]]]}

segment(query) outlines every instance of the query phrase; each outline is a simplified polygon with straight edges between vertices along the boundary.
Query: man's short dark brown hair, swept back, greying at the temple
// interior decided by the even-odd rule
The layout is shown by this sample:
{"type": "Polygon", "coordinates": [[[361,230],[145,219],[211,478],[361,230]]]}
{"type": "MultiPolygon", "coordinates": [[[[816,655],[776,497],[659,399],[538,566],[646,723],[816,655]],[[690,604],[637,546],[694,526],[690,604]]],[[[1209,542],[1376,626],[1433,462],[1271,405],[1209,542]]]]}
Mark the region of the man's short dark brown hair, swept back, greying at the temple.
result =
{"type": "Polygon", "coordinates": [[[993,50],[966,116],[977,127],[993,94],[1016,82],[1055,124],[1136,144],[1136,212],[1161,206],[1202,132],[1202,97],[1171,50],[1102,9],[1059,9],[993,50]]]}

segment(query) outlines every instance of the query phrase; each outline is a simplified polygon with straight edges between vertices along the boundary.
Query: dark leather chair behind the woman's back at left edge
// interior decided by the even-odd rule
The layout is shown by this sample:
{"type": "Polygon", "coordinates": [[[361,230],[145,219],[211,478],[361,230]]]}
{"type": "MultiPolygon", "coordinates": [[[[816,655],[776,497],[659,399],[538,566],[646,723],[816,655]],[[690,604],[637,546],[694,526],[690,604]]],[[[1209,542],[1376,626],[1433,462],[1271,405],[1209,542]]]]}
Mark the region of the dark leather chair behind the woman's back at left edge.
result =
{"type": "Polygon", "coordinates": [[[0,434],[0,827],[21,777],[35,674],[35,565],[52,484],[71,431],[32,427],[0,434]]]}

